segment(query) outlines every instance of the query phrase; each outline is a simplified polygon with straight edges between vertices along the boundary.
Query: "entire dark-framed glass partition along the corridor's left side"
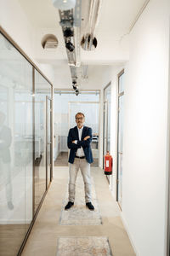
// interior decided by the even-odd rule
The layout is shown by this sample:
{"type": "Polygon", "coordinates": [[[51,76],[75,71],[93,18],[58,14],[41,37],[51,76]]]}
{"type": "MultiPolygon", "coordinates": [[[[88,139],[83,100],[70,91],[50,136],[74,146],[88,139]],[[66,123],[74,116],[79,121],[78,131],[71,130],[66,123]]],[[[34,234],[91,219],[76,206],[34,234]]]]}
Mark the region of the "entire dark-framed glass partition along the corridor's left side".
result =
{"type": "Polygon", "coordinates": [[[51,87],[26,57],[0,33],[2,256],[20,254],[20,247],[26,241],[37,208],[48,188],[51,147],[48,147],[47,141],[51,143],[51,107],[47,104],[47,96],[51,102],[51,87]]]}

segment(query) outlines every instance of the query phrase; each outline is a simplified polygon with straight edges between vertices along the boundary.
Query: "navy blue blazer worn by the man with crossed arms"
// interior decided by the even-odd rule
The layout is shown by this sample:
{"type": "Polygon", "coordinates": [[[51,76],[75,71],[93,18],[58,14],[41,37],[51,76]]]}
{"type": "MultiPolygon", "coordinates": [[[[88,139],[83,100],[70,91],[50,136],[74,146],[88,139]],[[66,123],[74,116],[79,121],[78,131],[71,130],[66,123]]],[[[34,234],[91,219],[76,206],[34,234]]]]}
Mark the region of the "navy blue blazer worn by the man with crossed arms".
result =
{"type": "Polygon", "coordinates": [[[92,142],[92,128],[83,126],[81,141],[79,140],[79,137],[78,137],[77,126],[75,126],[74,128],[71,128],[67,138],[67,146],[68,148],[71,149],[70,155],[69,155],[69,163],[71,164],[74,163],[77,149],[81,147],[84,150],[84,154],[88,163],[89,164],[93,163],[94,160],[92,155],[92,149],[90,147],[91,142],[92,142]],[[90,138],[88,138],[86,141],[83,141],[83,138],[87,136],[89,136],[90,138]],[[72,141],[76,141],[76,140],[77,140],[77,144],[72,143],[72,141]]]}

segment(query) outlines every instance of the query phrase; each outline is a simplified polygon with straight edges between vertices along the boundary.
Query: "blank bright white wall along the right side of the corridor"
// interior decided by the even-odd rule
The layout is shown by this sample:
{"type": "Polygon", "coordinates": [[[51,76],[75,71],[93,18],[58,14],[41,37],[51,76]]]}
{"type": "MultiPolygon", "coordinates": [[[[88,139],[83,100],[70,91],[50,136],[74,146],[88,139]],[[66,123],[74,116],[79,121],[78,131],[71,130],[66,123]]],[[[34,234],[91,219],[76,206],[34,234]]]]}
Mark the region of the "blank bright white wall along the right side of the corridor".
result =
{"type": "Polygon", "coordinates": [[[140,256],[166,255],[168,0],[150,0],[125,69],[122,219],[140,256]]]}

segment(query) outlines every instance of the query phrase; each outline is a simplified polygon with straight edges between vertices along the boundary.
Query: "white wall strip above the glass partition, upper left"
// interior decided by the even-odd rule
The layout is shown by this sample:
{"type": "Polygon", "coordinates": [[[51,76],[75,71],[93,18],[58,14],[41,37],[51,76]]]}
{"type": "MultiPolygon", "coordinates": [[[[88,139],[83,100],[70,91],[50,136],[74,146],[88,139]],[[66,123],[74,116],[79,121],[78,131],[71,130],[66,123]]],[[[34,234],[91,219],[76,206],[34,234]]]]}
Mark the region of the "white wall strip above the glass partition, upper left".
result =
{"type": "Polygon", "coordinates": [[[31,26],[25,12],[17,0],[0,0],[0,26],[24,50],[37,67],[40,68],[51,82],[54,81],[54,71],[51,65],[39,65],[35,60],[36,29],[31,26]]]}

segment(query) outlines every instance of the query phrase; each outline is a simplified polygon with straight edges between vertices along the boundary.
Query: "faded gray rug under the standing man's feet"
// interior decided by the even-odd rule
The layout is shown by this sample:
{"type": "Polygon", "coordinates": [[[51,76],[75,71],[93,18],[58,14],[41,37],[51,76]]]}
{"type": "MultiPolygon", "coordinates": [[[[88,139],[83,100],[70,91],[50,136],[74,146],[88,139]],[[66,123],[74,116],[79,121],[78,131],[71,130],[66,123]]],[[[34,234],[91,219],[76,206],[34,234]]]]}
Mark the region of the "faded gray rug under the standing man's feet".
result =
{"type": "MultiPolygon", "coordinates": [[[[68,190],[68,189],[67,189],[68,190]]],[[[74,206],[71,209],[65,211],[65,205],[68,202],[68,191],[63,201],[61,216],[59,218],[59,224],[69,225],[99,225],[102,224],[99,214],[98,202],[95,195],[94,181],[92,179],[92,203],[94,205],[94,211],[90,211],[85,204],[84,199],[84,183],[82,175],[79,173],[77,176],[76,185],[76,199],[74,206]]]]}

